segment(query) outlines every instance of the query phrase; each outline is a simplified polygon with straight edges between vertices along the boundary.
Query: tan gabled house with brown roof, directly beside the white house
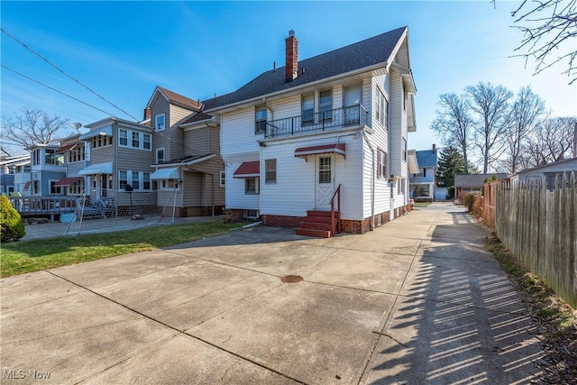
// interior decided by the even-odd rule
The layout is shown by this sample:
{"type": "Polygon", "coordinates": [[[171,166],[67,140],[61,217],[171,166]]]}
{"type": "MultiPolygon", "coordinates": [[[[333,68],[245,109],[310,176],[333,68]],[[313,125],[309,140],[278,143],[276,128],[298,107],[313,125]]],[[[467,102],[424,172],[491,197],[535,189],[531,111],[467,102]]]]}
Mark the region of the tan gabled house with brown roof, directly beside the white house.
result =
{"type": "Polygon", "coordinates": [[[156,87],[144,110],[144,124],[150,124],[153,132],[152,188],[158,190],[161,208],[171,206],[176,198],[176,216],[223,212],[220,125],[203,108],[197,101],[156,87]]]}

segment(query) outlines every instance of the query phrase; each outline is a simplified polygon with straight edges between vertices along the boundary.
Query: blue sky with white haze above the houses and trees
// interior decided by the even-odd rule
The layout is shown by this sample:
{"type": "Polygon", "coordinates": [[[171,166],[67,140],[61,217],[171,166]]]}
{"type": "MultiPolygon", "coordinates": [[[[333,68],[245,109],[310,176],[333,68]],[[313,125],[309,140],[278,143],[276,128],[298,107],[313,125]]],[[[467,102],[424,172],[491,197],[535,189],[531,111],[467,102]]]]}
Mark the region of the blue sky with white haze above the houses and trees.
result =
{"type": "MultiPolygon", "coordinates": [[[[474,2],[6,2],[2,27],[130,115],[154,87],[192,99],[234,91],[262,71],[284,65],[284,39],[295,30],[307,59],[408,25],[417,84],[417,133],[409,147],[440,145],[429,129],[438,96],[479,81],[516,92],[530,85],[553,115],[575,115],[577,87],[563,66],[536,77],[533,63],[510,58],[520,41],[510,11],[520,1],[474,2]]],[[[41,108],[89,124],[132,119],[50,67],[2,33],[2,64],[107,114],[1,70],[2,115],[41,108]]]]}

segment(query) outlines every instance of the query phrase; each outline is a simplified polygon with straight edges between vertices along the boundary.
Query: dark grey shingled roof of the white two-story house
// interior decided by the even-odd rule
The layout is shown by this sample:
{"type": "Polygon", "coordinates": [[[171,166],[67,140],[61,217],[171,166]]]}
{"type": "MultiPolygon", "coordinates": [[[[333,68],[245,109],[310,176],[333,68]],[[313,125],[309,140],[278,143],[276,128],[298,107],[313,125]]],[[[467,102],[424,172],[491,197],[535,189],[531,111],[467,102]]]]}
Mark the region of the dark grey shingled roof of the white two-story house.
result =
{"type": "Polygon", "coordinates": [[[307,60],[298,61],[298,78],[285,81],[285,67],[263,72],[236,91],[204,101],[205,110],[266,96],[290,88],[299,87],[324,78],[331,78],[358,69],[368,68],[389,60],[407,27],[382,33],[369,39],[355,42],[338,50],[323,53],[307,60]],[[304,69],[304,73],[301,73],[304,69]]]}

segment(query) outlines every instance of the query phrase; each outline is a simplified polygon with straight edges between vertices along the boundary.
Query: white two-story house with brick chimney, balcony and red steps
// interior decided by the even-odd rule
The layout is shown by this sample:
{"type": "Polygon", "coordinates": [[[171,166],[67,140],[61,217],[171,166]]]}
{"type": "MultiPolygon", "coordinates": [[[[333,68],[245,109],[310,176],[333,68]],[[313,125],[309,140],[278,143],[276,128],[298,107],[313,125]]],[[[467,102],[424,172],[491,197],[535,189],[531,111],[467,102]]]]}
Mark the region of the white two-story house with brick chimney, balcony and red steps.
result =
{"type": "Polygon", "coordinates": [[[408,28],[307,60],[293,31],[285,42],[285,67],[204,102],[220,118],[226,208],[317,236],[404,214],[417,172],[408,28]]]}

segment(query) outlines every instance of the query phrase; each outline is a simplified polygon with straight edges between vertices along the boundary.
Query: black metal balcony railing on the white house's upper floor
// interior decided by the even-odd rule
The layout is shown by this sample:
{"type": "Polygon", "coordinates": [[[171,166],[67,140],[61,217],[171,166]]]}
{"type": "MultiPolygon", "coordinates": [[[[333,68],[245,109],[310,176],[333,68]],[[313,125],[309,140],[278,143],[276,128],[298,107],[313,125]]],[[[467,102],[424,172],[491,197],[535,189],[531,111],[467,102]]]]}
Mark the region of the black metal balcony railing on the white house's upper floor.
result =
{"type": "Polygon", "coordinates": [[[267,122],[265,138],[298,135],[311,131],[325,131],[335,128],[367,124],[369,113],[362,105],[321,111],[267,122]]]}

